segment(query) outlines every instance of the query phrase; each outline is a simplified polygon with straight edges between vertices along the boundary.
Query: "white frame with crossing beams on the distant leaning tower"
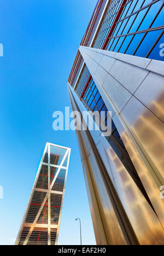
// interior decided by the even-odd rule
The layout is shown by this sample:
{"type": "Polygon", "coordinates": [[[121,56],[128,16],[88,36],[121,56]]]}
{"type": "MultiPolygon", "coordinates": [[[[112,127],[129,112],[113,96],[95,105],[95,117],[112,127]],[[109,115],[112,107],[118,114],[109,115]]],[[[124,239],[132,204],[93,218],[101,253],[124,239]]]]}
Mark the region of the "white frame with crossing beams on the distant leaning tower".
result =
{"type": "Polygon", "coordinates": [[[63,198],[64,198],[64,195],[65,195],[65,188],[66,188],[66,180],[67,180],[67,173],[68,173],[70,154],[71,154],[71,148],[59,146],[57,144],[52,144],[52,143],[48,143],[48,142],[46,143],[46,146],[45,146],[45,149],[44,149],[44,153],[43,153],[43,156],[42,156],[42,159],[40,161],[39,168],[38,168],[38,171],[37,171],[36,179],[35,179],[34,184],[33,184],[33,188],[32,188],[31,195],[30,195],[30,199],[28,200],[28,203],[27,203],[27,207],[26,207],[26,211],[25,211],[25,214],[24,214],[24,218],[22,219],[22,223],[21,223],[21,226],[20,226],[20,229],[19,229],[19,233],[18,233],[16,241],[15,241],[15,245],[20,245],[21,234],[22,234],[22,231],[23,231],[23,229],[25,227],[30,228],[30,230],[28,231],[28,234],[27,234],[24,242],[22,243],[22,245],[27,245],[27,243],[29,241],[29,238],[30,238],[34,228],[40,228],[40,229],[41,228],[46,228],[46,229],[48,229],[48,243],[47,243],[47,245],[51,245],[51,229],[56,229],[57,231],[56,231],[55,245],[57,245],[58,233],[59,233],[59,230],[60,230],[62,205],[63,205],[63,198]],[[66,153],[63,156],[63,159],[62,159],[60,165],[50,164],[50,147],[51,146],[54,146],[54,147],[57,147],[57,148],[66,149],[66,153]],[[48,163],[45,163],[44,162],[44,158],[45,158],[45,154],[47,152],[47,149],[48,149],[48,163]],[[65,161],[65,159],[67,157],[68,157],[67,166],[64,167],[63,163],[64,163],[64,161],[65,161]],[[42,165],[48,166],[48,189],[36,188],[36,185],[37,185],[37,182],[38,182],[38,178],[39,178],[39,173],[40,173],[40,170],[42,168],[42,165]],[[56,174],[55,174],[54,178],[52,179],[51,183],[50,183],[50,166],[57,168],[56,169],[56,174]],[[57,178],[58,173],[60,172],[61,168],[62,169],[66,169],[65,181],[64,181],[64,184],[63,184],[63,191],[62,192],[61,191],[54,191],[54,190],[52,190],[52,187],[53,187],[53,185],[54,185],[54,183],[56,181],[56,178],[57,178]],[[38,213],[36,214],[36,217],[35,217],[33,223],[26,223],[26,218],[27,218],[28,211],[30,209],[30,205],[31,205],[31,201],[32,201],[32,198],[33,198],[34,191],[44,192],[44,193],[46,193],[46,195],[44,197],[42,205],[39,208],[38,213]],[[59,214],[59,217],[58,217],[58,224],[57,225],[51,224],[51,205],[50,205],[50,195],[51,194],[61,194],[62,195],[61,206],[60,206],[60,214],[59,214]],[[48,224],[38,224],[37,220],[38,220],[38,218],[40,216],[40,213],[43,210],[43,207],[44,207],[46,201],[48,201],[48,224]]]}

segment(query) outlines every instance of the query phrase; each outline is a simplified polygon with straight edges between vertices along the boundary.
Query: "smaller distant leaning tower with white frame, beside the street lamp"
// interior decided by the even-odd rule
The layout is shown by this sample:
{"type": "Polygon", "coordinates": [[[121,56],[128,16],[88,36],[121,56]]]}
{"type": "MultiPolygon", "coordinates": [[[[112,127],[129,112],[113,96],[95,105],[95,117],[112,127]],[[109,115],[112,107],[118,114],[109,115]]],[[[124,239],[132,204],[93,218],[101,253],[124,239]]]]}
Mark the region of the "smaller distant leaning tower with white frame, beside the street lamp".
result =
{"type": "Polygon", "coordinates": [[[57,245],[70,153],[46,143],[15,245],[57,245]]]}

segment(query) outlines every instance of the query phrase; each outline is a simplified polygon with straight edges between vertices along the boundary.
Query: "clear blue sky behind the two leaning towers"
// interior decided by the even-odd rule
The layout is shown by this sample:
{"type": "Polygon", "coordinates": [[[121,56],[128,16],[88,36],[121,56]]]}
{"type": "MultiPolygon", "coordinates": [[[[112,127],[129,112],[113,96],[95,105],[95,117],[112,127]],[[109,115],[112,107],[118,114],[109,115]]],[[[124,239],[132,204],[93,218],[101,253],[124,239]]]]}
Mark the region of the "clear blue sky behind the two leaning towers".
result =
{"type": "Polygon", "coordinates": [[[72,148],[60,245],[95,244],[77,138],[54,131],[69,106],[67,78],[97,0],[0,0],[0,244],[14,244],[45,143],[72,148]]]}

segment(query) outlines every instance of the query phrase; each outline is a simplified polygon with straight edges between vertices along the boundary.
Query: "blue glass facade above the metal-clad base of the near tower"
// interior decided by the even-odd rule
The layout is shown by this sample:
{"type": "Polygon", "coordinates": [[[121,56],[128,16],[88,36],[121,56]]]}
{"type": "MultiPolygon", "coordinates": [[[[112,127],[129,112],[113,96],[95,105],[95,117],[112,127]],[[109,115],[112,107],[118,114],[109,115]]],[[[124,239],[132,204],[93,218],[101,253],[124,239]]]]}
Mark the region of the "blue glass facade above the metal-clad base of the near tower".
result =
{"type": "MultiPolygon", "coordinates": [[[[112,28],[122,1],[112,1],[104,15],[101,27],[97,33],[93,48],[102,49],[103,44],[112,28]]],[[[126,1],[114,24],[113,31],[105,50],[116,51],[140,57],[150,57],[154,51],[154,58],[161,60],[159,51],[155,47],[163,35],[163,0],[158,1],[126,1]],[[156,54],[155,54],[156,51],[156,54]]]]}

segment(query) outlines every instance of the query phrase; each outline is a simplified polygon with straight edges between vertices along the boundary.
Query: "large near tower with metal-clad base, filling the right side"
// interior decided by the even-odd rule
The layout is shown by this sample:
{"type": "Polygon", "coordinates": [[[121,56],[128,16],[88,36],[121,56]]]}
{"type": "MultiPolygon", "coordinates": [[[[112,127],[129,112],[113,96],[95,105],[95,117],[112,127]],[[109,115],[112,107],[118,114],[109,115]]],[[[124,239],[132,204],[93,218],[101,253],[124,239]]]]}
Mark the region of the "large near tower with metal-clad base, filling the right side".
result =
{"type": "Polygon", "coordinates": [[[68,78],[73,110],[112,112],[77,130],[98,245],[164,244],[163,3],[99,0],[68,78]]]}

